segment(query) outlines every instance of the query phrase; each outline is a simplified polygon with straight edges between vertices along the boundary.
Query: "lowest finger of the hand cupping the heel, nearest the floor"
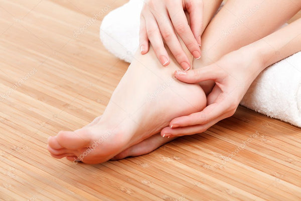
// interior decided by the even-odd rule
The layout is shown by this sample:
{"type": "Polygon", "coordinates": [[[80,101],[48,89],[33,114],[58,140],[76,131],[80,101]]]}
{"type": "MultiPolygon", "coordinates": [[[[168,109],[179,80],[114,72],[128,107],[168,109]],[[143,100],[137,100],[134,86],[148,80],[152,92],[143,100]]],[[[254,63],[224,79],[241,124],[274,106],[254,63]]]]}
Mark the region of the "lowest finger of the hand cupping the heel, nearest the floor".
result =
{"type": "Polygon", "coordinates": [[[179,127],[179,128],[175,128],[175,129],[166,127],[161,131],[161,136],[172,138],[172,137],[180,137],[180,136],[184,136],[184,135],[193,135],[196,133],[203,133],[203,132],[207,131],[210,127],[212,127],[213,125],[215,125],[216,123],[218,123],[219,121],[221,121],[225,118],[227,118],[226,114],[218,117],[217,119],[214,119],[211,122],[208,122],[207,124],[203,124],[203,125],[179,127]]]}

